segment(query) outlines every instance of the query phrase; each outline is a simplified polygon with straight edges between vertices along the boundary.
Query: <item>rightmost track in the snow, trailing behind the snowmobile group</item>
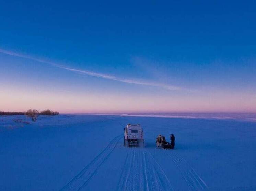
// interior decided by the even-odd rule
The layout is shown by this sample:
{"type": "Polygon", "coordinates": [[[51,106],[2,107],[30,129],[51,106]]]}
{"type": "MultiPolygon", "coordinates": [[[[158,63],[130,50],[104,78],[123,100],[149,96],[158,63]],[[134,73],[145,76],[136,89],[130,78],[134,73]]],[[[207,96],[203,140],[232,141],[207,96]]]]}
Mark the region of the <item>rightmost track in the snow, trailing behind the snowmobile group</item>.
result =
{"type": "Polygon", "coordinates": [[[187,163],[187,161],[176,154],[166,153],[177,166],[186,181],[190,191],[206,191],[209,190],[206,183],[195,172],[195,170],[187,163]]]}

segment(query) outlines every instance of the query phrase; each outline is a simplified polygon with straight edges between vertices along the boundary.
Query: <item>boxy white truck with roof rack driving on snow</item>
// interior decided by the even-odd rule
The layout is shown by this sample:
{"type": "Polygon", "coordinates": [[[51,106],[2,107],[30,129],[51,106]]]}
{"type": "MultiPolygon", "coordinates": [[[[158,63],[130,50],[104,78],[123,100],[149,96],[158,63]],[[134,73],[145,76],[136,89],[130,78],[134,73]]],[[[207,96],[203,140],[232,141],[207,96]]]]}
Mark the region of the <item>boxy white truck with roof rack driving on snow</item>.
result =
{"type": "Polygon", "coordinates": [[[143,129],[140,124],[128,124],[124,128],[124,146],[144,147],[143,129]]]}

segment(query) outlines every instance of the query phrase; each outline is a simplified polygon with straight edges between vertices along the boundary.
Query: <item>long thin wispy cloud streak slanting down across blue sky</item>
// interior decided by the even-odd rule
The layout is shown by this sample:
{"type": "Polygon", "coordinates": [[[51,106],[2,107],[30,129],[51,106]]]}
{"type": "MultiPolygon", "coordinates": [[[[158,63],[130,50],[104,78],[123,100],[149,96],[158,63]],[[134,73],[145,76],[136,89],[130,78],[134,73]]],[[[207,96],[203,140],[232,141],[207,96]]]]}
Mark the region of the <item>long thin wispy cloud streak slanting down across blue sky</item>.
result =
{"type": "Polygon", "coordinates": [[[88,70],[78,70],[78,69],[66,67],[62,64],[58,64],[58,63],[55,63],[55,62],[50,62],[50,61],[47,61],[47,60],[38,59],[38,58],[35,58],[35,57],[32,57],[32,56],[19,54],[19,53],[15,53],[15,52],[12,52],[12,51],[7,51],[7,50],[4,50],[4,49],[0,49],[0,53],[11,55],[11,56],[17,56],[17,57],[20,57],[20,58],[35,60],[35,61],[40,62],[40,63],[50,64],[50,65],[58,67],[58,68],[62,68],[62,69],[69,70],[69,71],[72,71],[72,72],[81,73],[81,74],[88,75],[88,76],[94,76],[94,77],[104,78],[104,79],[108,79],[108,80],[115,80],[115,81],[129,83],[129,84],[138,84],[138,85],[145,85],[145,86],[161,87],[161,88],[164,88],[166,90],[182,90],[181,87],[168,85],[168,84],[162,84],[162,83],[157,83],[157,82],[146,82],[146,81],[138,80],[138,79],[124,79],[124,78],[119,78],[119,77],[116,77],[116,76],[103,74],[103,73],[98,73],[98,72],[93,72],[93,71],[88,71],[88,70]]]}

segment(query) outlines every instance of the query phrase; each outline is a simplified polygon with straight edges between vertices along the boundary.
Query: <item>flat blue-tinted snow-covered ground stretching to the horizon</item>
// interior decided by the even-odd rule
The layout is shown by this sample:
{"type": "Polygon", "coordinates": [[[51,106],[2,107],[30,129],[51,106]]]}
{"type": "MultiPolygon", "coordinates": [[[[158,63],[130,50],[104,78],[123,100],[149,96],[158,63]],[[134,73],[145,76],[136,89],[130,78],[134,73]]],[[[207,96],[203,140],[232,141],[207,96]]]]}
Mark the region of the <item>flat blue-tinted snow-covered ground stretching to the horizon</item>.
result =
{"type": "Polygon", "coordinates": [[[0,116],[0,190],[254,191],[255,119],[59,115],[33,123],[0,116]],[[124,148],[127,123],[141,123],[145,148],[124,148]],[[156,136],[170,133],[175,150],[156,149],[156,136]]]}

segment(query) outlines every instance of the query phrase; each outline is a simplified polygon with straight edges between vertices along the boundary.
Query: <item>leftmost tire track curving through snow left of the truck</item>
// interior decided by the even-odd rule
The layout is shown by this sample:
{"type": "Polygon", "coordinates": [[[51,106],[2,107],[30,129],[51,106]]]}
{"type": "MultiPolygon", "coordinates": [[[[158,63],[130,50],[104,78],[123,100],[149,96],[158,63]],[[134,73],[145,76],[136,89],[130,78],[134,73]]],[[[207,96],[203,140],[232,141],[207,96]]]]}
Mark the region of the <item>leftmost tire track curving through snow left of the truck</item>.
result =
{"type": "Polygon", "coordinates": [[[112,153],[116,144],[122,137],[123,134],[116,136],[112,141],[110,141],[107,147],[60,191],[78,191],[86,186],[96,173],[97,169],[107,160],[108,156],[112,153]]]}

